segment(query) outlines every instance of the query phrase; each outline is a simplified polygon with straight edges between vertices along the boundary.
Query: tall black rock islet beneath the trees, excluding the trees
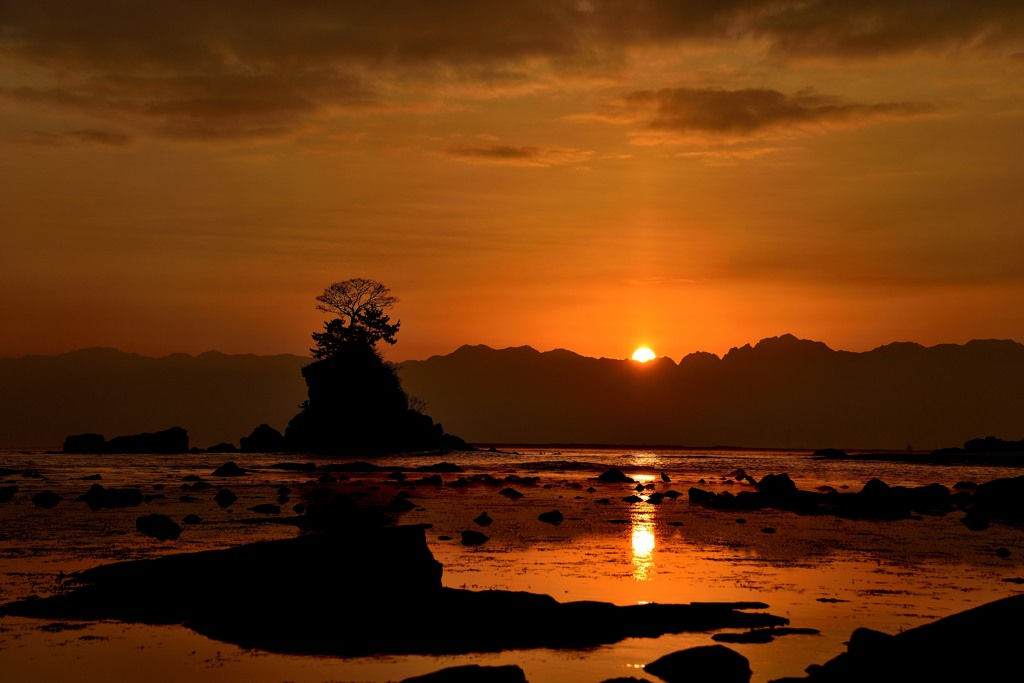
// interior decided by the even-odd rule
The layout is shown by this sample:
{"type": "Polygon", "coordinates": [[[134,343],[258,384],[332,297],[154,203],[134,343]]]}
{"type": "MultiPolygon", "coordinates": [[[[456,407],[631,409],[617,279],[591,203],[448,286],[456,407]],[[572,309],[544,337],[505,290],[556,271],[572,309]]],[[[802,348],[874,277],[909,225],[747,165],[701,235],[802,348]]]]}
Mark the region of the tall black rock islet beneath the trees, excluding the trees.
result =
{"type": "Polygon", "coordinates": [[[309,399],[285,430],[290,451],[332,455],[468,450],[409,407],[394,368],[373,347],[346,344],[302,369],[309,399]]]}

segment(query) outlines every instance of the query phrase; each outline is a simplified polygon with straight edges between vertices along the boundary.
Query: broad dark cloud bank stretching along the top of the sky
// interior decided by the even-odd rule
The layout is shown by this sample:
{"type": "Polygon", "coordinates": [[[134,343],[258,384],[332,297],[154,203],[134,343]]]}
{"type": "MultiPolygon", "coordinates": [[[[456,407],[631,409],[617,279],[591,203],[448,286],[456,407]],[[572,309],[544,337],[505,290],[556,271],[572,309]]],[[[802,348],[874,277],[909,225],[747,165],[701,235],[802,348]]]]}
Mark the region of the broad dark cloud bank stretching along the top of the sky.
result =
{"type": "MultiPolygon", "coordinates": [[[[381,79],[430,82],[435,73],[463,83],[522,87],[531,63],[565,74],[600,72],[634,46],[723,46],[740,39],[764,41],[782,59],[1019,53],[1024,3],[3,2],[0,65],[12,67],[34,89],[7,88],[0,95],[134,118],[136,125],[175,137],[249,137],[286,134],[333,109],[377,102],[386,89],[381,79]]],[[[781,118],[807,114],[792,101],[760,106],[775,108],[781,118]]],[[[744,125],[733,116],[735,125],[744,125]]]]}

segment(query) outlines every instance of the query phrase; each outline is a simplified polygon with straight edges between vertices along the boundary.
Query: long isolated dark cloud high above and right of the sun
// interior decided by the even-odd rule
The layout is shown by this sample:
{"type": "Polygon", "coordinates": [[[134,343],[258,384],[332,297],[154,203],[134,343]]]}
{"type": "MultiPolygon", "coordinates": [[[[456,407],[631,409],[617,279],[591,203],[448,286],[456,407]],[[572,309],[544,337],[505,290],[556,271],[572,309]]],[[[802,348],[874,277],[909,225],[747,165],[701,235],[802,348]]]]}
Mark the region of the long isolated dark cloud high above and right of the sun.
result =
{"type": "Polygon", "coordinates": [[[849,102],[813,91],[786,95],[763,88],[641,90],[626,95],[623,103],[653,130],[741,136],[803,125],[918,116],[933,109],[915,102],[849,102]]]}

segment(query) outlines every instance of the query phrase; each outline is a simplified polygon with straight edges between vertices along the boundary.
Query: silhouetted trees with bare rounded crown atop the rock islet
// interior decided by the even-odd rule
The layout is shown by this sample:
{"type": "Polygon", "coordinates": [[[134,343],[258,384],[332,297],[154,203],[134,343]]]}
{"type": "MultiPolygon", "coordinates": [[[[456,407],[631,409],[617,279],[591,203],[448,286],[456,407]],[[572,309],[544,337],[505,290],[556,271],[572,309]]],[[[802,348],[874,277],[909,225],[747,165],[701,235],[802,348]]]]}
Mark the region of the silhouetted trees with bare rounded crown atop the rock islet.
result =
{"type": "Polygon", "coordinates": [[[398,302],[386,286],[365,278],[353,278],[330,285],[316,297],[317,310],[333,313],[324,324],[324,332],[314,332],[314,358],[324,359],[341,353],[350,345],[376,347],[379,342],[395,343],[401,321],[391,323],[385,311],[398,302]]]}

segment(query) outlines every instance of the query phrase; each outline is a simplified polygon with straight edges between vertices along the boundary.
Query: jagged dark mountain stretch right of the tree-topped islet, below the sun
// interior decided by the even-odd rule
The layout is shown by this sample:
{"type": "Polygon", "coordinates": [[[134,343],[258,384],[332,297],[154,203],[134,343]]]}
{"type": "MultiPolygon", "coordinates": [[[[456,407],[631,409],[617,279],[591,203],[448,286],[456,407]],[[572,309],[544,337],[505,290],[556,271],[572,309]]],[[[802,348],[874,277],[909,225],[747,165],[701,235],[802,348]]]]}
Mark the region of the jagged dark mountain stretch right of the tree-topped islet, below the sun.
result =
{"type": "Polygon", "coordinates": [[[898,450],[1024,432],[1024,345],[1010,340],[851,352],[782,335],[645,365],[463,346],[401,377],[471,442],[898,450]]]}

